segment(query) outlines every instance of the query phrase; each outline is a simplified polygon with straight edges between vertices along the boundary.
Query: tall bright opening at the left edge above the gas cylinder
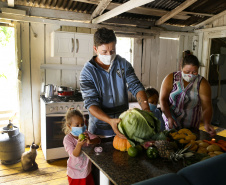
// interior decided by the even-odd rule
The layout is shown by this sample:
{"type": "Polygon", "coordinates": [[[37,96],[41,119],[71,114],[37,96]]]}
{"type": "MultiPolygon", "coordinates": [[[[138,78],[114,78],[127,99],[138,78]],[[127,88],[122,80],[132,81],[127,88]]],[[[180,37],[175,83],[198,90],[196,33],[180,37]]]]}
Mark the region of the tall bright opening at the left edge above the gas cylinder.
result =
{"type": "Polygon", "coordinates": [[[17,125],[19,107],[13,27],[0,26],[0,61],[0,127],[6,126],[9,119],[17,125]]]}

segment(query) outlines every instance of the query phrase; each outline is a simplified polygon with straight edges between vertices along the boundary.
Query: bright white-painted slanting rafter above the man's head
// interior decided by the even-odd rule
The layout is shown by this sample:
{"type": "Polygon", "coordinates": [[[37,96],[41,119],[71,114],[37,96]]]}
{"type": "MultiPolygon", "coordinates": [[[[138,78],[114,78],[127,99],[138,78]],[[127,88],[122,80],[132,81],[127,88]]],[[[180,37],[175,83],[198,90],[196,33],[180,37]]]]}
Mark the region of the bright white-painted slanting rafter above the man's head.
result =
{"type": "Polygon", "coordinates": [[[147,4],[147,3],[150,3],[154,0],[130,0],[130,1],[127,1],[126,3],[114,8],[113,10],[95,18],[92,20],[92,23],[100,23],[100,22],[103,22],[107,19],[110,19],[112,17],[115,17],[121,13],[124,13],[124,12],[127,12],[128,10],[131,10],[133,8],[136,8],[138,6],[142,6],[144,4],[147,4]]]}

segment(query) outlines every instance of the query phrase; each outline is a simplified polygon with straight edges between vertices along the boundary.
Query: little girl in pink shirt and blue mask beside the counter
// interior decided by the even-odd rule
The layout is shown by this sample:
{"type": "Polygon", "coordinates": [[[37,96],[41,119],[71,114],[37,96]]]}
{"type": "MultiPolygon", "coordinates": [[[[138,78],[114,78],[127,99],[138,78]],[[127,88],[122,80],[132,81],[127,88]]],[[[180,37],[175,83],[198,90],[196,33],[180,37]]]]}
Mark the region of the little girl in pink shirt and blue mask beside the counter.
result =
{"type": "Polygon", "coordinates": [[[91,161],[81,152],[82,146],[100,143],[100,138],[89,133],[84,125],[84,117],[78,110],[69,110],[65,116],[63,128],[64,148],[69,154],[67,161],[67,175],[69,185],[94,185],[91,174],[91,161]],[[85,139],[78,138],[85,134],[85,139]]]}

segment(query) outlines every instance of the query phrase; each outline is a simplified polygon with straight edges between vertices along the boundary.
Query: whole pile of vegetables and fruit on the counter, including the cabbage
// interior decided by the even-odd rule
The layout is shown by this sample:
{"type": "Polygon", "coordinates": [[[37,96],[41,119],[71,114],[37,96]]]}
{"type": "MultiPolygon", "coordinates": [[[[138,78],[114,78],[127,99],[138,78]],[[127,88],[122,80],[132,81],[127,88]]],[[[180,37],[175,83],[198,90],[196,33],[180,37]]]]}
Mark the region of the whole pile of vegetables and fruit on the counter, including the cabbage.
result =
{"type": "Polygon", "coordinates": [[[151,112],[134,108],[123,112],[119,118],[121,121],[118,130],[127,139],[116,135],[113,147],[127,151],[131,157],[136,157],[145,150],[148,158],[160,156],[178,161],[189,154],[186,162],[192,164],[226,151],[226,141],[197,141],[196,135],[186,128],[161,132],[160,121],[151,112]],[[184,153],[186,150],[189,151],[184,153]]]}

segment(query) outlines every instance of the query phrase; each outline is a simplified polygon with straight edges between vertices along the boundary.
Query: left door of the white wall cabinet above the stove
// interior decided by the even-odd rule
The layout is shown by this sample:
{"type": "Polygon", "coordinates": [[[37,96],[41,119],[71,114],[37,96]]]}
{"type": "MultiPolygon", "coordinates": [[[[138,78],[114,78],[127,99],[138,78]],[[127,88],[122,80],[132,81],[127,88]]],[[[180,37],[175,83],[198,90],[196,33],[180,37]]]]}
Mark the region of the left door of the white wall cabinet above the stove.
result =
{"type": "Polygon", "coordinates": [[[51,56],[74,57],[74,33],[51,33],[51,56]]]}

